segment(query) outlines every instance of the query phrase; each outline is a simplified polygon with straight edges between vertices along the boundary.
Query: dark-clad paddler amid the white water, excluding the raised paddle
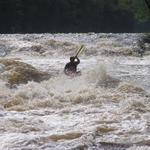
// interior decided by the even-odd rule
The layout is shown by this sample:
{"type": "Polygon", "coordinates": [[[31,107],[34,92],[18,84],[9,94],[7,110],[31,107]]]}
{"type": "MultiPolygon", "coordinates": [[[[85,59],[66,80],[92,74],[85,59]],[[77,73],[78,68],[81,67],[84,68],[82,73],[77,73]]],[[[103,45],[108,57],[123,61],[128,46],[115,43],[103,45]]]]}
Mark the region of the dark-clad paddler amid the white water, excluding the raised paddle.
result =
{"type": "Polygon", "coordinates": [[[70,62],[66,64],[64,68],[64,72],[66,75],[74,75],[80,73],[77,71],[77,65],[80,63],[79,58],[77,57],[71,57],[70,62]],[[77,60],[77,61],[75,61],[77,60]]]}

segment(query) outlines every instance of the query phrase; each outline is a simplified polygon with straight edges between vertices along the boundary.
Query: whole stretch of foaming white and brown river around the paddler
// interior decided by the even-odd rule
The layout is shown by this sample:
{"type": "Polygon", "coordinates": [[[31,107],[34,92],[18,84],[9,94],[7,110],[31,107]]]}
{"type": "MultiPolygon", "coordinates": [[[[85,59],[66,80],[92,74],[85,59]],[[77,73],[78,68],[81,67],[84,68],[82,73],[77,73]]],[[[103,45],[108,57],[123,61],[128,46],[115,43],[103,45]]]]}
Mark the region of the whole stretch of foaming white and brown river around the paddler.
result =
{"type": "Polygon", "coordinates": [[[0,150],[149,150],[142,34],[1,34],[0,150]],[[63,69],[81,44],[78,70],[63,69]]]}

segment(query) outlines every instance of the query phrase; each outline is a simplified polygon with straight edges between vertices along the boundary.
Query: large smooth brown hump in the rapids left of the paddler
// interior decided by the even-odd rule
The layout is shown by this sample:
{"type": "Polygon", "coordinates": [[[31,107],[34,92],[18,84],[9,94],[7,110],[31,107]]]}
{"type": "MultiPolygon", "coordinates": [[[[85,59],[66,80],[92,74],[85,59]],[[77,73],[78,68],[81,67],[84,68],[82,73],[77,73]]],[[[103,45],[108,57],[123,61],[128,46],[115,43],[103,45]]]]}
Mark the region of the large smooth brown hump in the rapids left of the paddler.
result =
{"type": "Polygon", "coordinates": [[[1,59],[0,64],[4,65],[3,73],[0,76],[10,85],[27,83],[28,81],[40,82],[50,78],[50,74],[13,59],[1,59]]]}

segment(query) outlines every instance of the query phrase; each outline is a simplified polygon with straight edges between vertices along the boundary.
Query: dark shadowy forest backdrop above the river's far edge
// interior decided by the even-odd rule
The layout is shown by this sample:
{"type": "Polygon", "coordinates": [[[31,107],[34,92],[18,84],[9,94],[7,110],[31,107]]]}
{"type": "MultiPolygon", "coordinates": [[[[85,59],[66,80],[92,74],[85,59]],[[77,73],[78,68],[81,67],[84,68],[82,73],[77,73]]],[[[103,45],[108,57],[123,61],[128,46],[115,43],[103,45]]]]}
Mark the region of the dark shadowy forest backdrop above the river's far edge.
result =
{"type": "Polygon", "coordinates": [[[0,0],[0,33],[150,32],[147,4],[149,0],[0,0]]]}

